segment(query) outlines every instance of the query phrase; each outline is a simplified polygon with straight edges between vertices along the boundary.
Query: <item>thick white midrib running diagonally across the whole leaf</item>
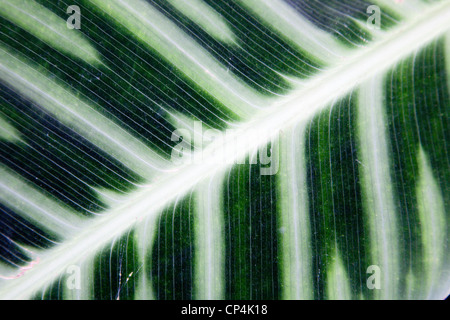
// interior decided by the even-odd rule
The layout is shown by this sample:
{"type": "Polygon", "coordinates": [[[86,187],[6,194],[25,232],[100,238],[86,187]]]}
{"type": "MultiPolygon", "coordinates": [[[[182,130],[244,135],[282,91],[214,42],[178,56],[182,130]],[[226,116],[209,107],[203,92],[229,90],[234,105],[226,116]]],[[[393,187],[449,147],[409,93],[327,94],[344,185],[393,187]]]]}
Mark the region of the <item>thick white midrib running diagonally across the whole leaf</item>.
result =
{"type": "MultiPolygon", "coordinates": [[[[211,158],[215,149],[222,149],[250,131],[266,132],[256,137],[254,146],[262,146],[281,129],[301,119],[308,119],[328,103],[351,91],[357,84],[371,76],[386,71],[402,58],[429,43],[449,29],[450,3],[435,5],[425,14],[409,21],[391,32],[384,39],[367,48],[356,51],[341,65],[311,79],[307,85],[295,91],[289,98],[261,111],[243,124],[242,130],[227,136],[223,144],[212,144],[204,151],[205,159],[211,158]]],[[[249,151],[238,145],[239,152],[227,155],[227,163],[235,163],[249,151]]],[[[227,150],[227,149],[225,149],[227,150]]],[[[40,262],[18,279],[6,283],[0,291],[0,299],[26,299],[34,292],[55,280],[71,264],[95,254],[114,237],[120,236],[141,218],[155,215],[177,196],[183,195],[202,179],[230,165],[186,165],[176,172],[164,175],[159,181],[144,186],[118,207],[96,218],[77,236],[65,241],[41,256],[40,262]]]]}

